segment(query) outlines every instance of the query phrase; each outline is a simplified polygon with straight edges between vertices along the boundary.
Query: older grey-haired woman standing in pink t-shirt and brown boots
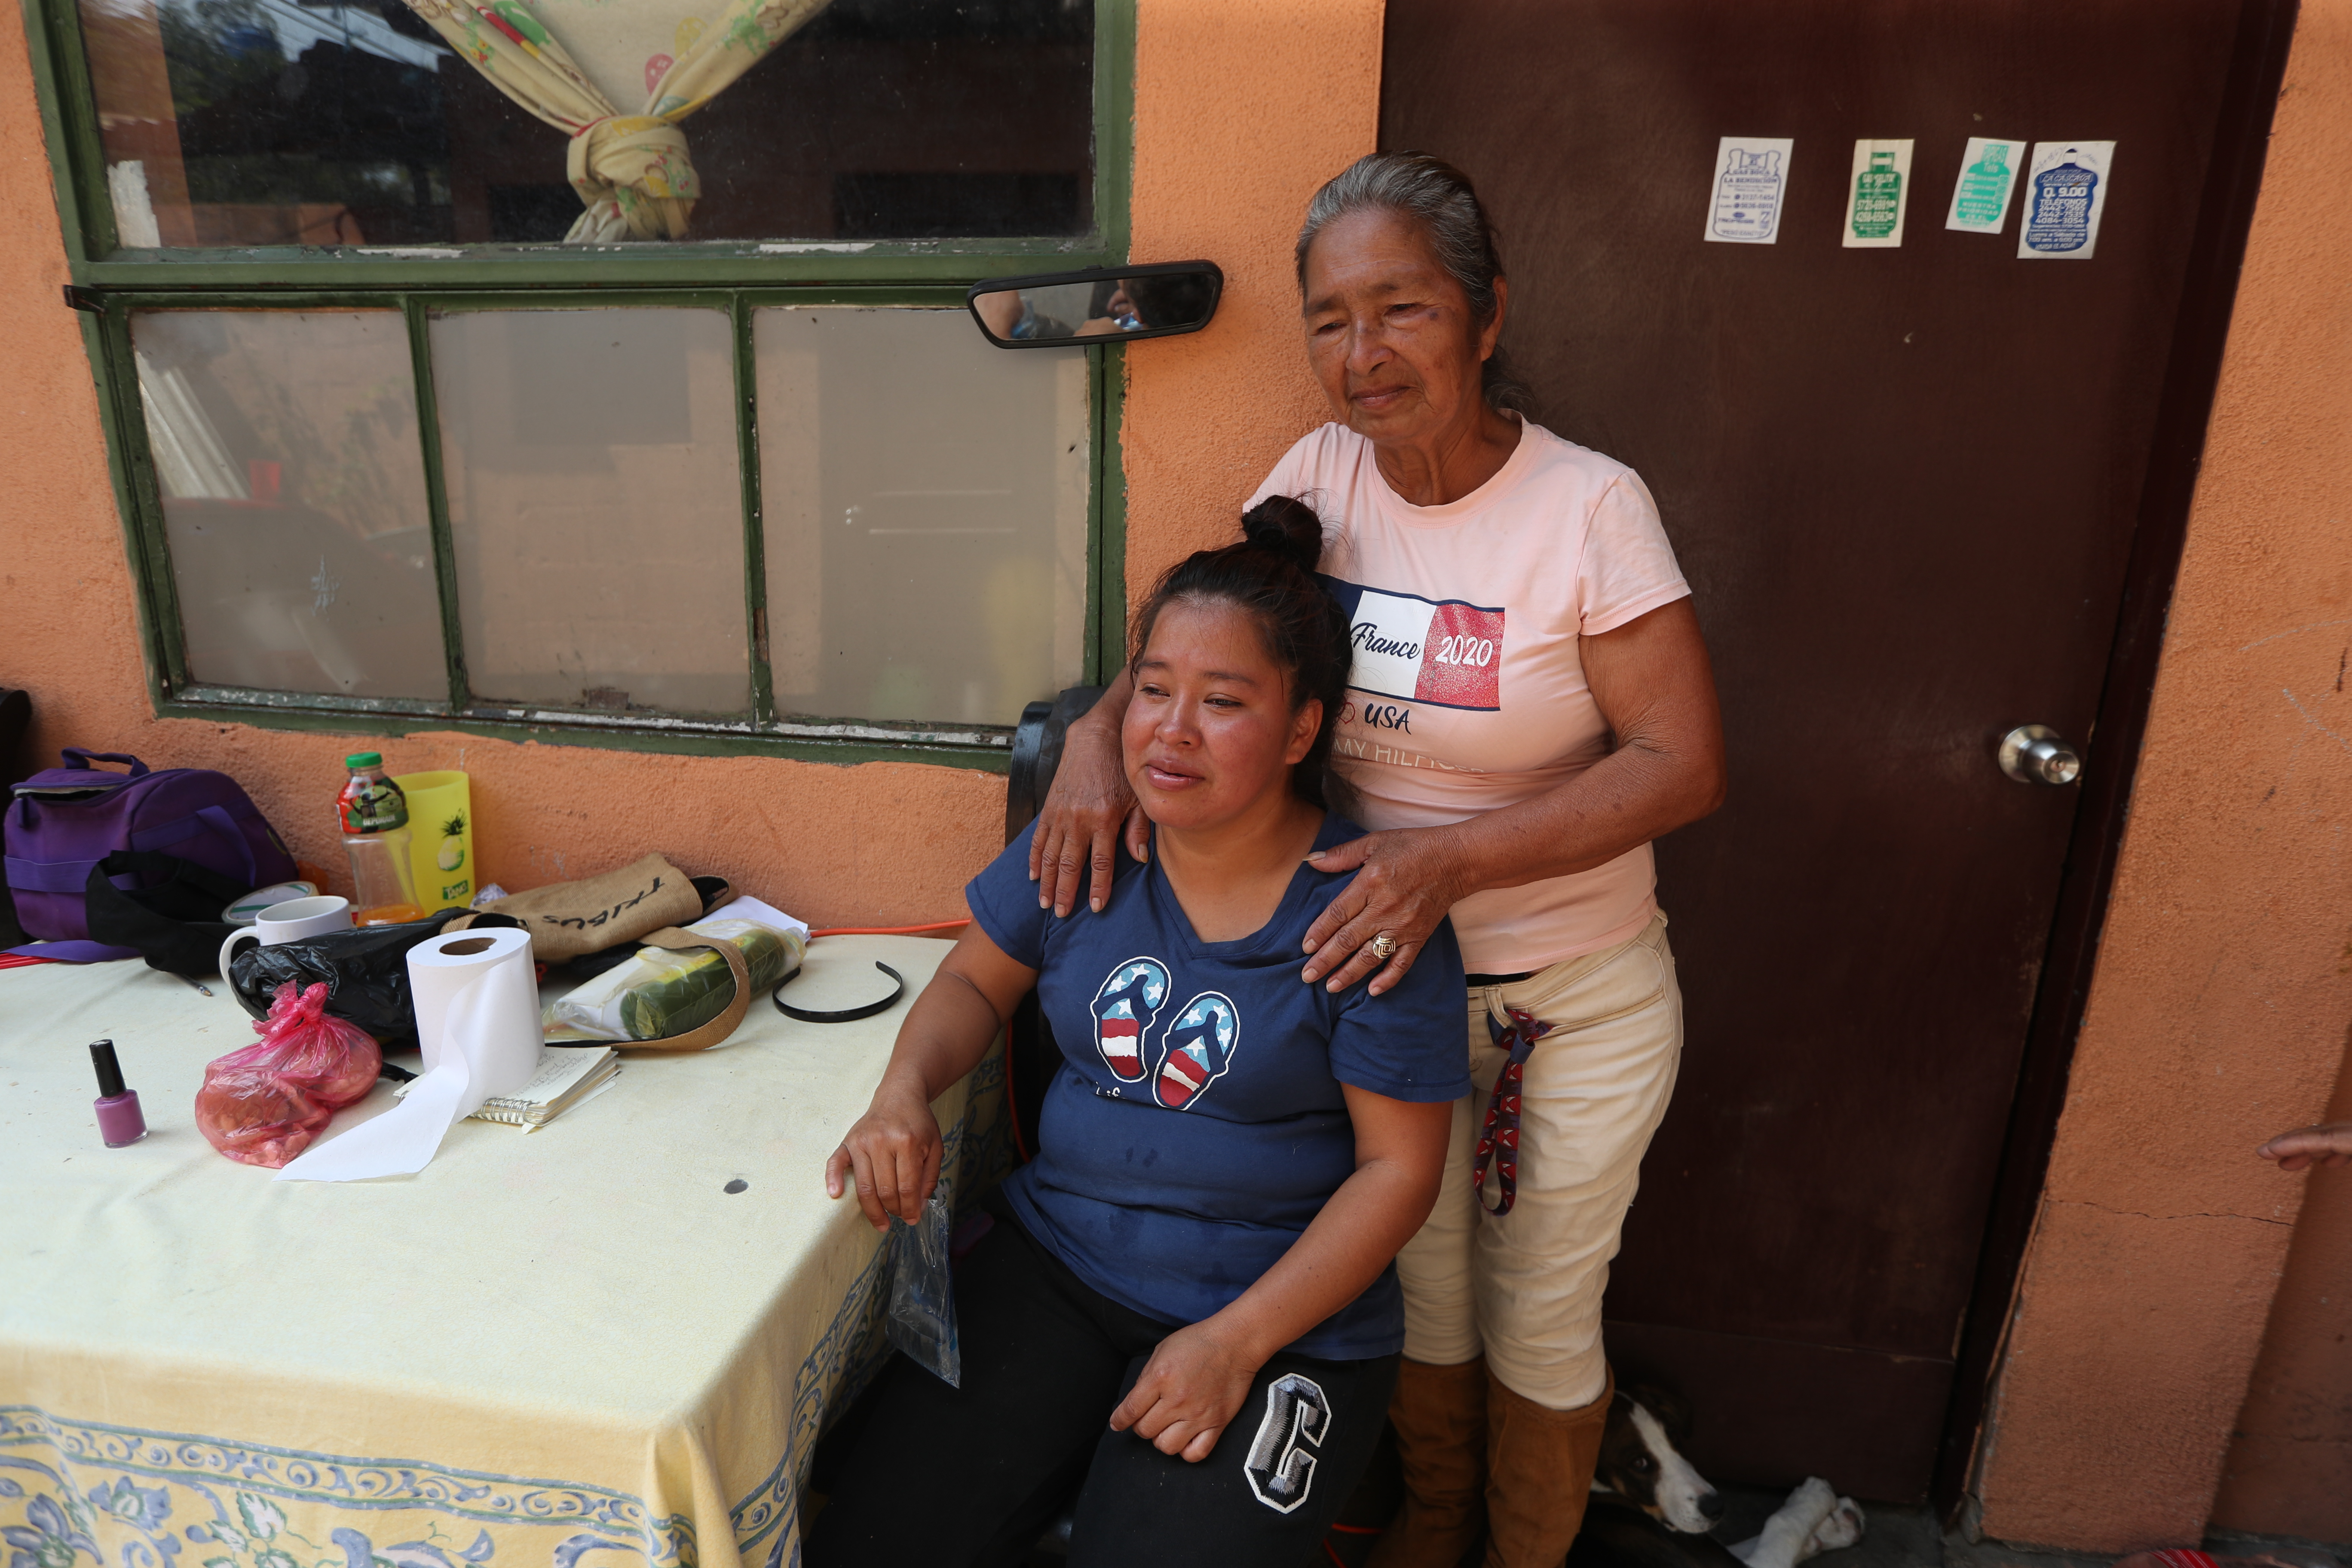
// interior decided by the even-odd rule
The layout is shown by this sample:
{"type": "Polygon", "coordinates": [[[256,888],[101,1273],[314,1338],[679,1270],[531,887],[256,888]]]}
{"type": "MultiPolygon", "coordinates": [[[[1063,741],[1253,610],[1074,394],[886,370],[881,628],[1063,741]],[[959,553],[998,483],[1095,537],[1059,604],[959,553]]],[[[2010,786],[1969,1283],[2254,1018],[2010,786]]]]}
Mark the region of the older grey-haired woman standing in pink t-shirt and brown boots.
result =
{"type": "MultiPolygon", "coordinates": [[[[1722,731],[1689,588],[1642,480],[1517,416],[1508,282],[1470,181],[1362,158],[1298,233],[1308,362],[1334,423],[1258,496],[1334,529],[1355,628],[1331,766],[1371,835],[1301,976],[1374,992],[1449,912],[1475,1091],[1437,1211],[1397,1258],[1390,1415],[1406,1507],[1374,1561],[1557,1568],[1583,1523],[1611,1380],[1602,1288],[1682,1053],[1651,839],[1722,804],[1722,731]],[[1482,1213],[1484,1211],[1484,1213],[1482,1213]]],[[[1042,905],[1110,889],[1127,682],[1073,726],[1033,839],[1042,905]]]]}

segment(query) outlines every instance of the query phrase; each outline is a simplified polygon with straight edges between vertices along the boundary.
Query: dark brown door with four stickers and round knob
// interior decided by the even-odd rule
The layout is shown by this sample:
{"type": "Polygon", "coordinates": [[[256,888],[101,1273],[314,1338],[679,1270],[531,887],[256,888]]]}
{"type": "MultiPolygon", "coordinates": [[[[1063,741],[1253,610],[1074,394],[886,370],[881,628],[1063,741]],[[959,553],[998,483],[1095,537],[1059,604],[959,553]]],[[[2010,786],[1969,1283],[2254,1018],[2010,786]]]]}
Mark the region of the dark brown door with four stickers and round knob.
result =
{"type": "Polygon", "coordinates": [[[1715,651],[1731,802],[1658,849],[1689,1046],[1609,1347],[1717,1479],[1926,1493],[2082,799],[1994,743],[2103,766],[2237,21],[1388,5],[1381,146],[1479,183],[1543,423],[1649,480],[1715,651]],[[1795,139],[1773,244],[1700,237],[1726,134],[1795,139]],[[1898,249],[1842,247],[1863,136],[1915,143],[1898,249]],[[2093,259],[2018,259],[2025,179],[1947,230],[1969,136],[2114,141],[2093,259]]]}

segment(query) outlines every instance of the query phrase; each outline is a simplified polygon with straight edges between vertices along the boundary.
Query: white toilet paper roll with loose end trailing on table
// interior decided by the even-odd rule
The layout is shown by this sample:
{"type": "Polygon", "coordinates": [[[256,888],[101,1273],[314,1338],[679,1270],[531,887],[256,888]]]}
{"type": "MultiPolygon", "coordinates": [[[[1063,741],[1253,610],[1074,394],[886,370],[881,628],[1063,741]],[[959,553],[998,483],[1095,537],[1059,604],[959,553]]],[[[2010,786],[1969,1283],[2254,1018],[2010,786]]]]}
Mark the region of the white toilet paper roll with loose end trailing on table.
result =
{"type": "Polygon", "coordinates": [[[494,1093],[539,1072],[539,985],[529,931],[449,931],[409,947],[409,999],[426,1074],[400,1105],[289,1161],[282,1182],[412,1175],[494,1093]]]}

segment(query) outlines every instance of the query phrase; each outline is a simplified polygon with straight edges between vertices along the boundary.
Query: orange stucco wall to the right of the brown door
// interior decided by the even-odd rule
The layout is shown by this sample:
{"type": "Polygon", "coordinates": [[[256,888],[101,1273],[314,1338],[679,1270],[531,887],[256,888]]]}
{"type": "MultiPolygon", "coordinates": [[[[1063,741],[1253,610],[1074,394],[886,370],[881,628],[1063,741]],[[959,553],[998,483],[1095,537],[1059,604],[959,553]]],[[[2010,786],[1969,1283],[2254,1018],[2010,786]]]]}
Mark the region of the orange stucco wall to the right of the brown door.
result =
{"type": "MultiPolygon", "coordinates": [[[[2347,143],[2352,2],[2305,0],[2114,903],[1980,1450],[1983,1530],[2009,1542],[2199,1540],[2307,1182],[2253,1145],[2319,1119],[2343,1060],[2347,143]]],[[[2277,1455],[2303,1467],[2291,1488],[2352,1495],[2352,1450],[2303,1448],[2277,1455]]]]}

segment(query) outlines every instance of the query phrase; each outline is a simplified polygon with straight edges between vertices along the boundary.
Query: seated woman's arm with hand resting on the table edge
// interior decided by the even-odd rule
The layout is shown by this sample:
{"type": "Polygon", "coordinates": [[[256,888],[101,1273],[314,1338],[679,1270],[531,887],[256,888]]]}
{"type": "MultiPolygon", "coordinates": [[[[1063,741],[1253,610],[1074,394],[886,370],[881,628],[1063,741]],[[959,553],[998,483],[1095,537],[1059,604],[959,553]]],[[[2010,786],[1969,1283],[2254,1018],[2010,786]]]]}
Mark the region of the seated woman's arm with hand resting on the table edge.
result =
{"type": "Polygon", "coordinates": [[[826,1197],[842,1197],[849,1175],[875,1229],[889,1229],[891,1215],[908,1225],[922,1218],[943,1150],[931,1100],[981,1065],[988,1041],[1035,983],[1035,969],[1004,957],[978,924],[964,926],[955,952],[906,1011],[873,1105],[826,1161],[826,1197]]]}

